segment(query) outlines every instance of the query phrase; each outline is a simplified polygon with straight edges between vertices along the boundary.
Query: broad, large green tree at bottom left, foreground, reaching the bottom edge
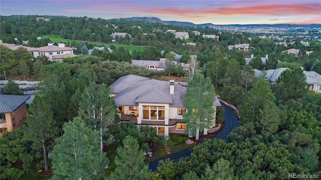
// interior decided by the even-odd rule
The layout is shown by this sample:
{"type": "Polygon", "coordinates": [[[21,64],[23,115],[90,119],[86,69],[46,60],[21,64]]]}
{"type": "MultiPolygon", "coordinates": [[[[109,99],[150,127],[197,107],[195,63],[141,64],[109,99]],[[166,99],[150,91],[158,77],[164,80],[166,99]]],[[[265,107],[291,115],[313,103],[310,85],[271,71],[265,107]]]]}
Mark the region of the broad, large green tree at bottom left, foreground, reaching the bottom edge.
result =
{"type": "Polygon", "coordinates": [[[98,131],[80,117],[65,123],[63,130],[50,152],[54,169],[51,179],[100,179],[108,159],[99,149],[98,131]]]}

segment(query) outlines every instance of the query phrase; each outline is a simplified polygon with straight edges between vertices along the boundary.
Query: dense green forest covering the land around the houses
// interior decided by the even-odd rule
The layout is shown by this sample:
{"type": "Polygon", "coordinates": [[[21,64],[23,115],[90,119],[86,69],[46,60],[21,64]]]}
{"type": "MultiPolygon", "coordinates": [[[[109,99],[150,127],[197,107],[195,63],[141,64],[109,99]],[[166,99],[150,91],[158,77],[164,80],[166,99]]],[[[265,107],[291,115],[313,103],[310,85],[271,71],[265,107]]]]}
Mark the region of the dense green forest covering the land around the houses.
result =
{"type": "MultiPolygon", "coordinates": [[[[69,160],[70,164],[65,164],[64,160],[49,160],[53,179],[72,177],[76,173],[88,175],[90,179],[127,179],[129,176],[126,175],[137,177],[138,173],[143,174],[142,179],[290,179],[289,173],[320,174],[321,94],[306,88],[303,73],[303,69],[321,73],[320,43],[310,42],[309,46],[304,46],[301,43],[303,39],[299,38],[259,38],[248,33],[143,21],[62,16],[38,22],[36,17],[1,16],[0,39],[14,44],[28,40],[25,46],[40,47],[51,39],[38,40],[37,37],[58,35],[74,40],[66,45],[76,47],[74,53],[79,56],[60,62],[49,61],[46,56],[33,58],[26,48],[12,50],[0,44],[1,79],[6,73],[8,78],[26,76],[27,79],[41,81],[39,92],[28,109],[26,125],[6,132],[0,138],[1,178],[18,179],[30,175],[34,162],[39,162],[38,168],[45,166],[43,156],[49,153],[56,159],[64,159],[62,149],[71,152],[72,148],[80,149],[79,154],[88,158],[81,159],[83,164],[73,160],[69,160]],[[188,32],[189,38],[175,38],[174,33],[166,32],[167,29],[188,32]],[[112,41],[110,34],[114,32],[126,32],[131,37],[116,37],[112,41]],[[203,34],[215,34],[219,39],[204,38],[203,34]],[[275,43],[280,41],[293,43],[287,46],[275,43]],[[99,46],[105,46],[105,50],[95,49],[91,54],[81,50],[84,46],[87,50],[93,48],[94,42],[100,42],[99,46]],[[195,45],[184,44],[187,42],[195,45]],[[248,43],[249,51],[228,48],[228,45],[240,43],[248,43]],[[129,52],[121,45],[143,46],[144,49],[129,52]],[[299,49],[298,55],[282,52],[290,48],[299,49]],[[305,53],[311,50],[312,53],[305,53]],[[169,53],[171,51],[182,55],[179,61],[190,63],[194,69],[182,71],[177,66],[168,66],[164,71],[156,71],[130,64],[132,59],[159,60],[167,57],[174,60],[173,54],[169,53]],[[251,54],[254,58],[247,65],[245,58],[250,58],[251,54]],[[197,55],[197,58],[190,55],[197,55]],[[266,55],[268,60],[263,64],[261,57],[266,55]],[[277,85],[273,86],[264,75],[256,77],[253,70],[262,70],[264,74],[264,70],[278,67],[289,69],[280,74],[277,85]],[[156,135],[154,128],[137,128],[133,123],[119,124],[116,106],[109,98],[109,86],[128,74],[152,78],[170,74],[190,80],[192,70],[210,77],[216,94],[238,107],[241,125],[229,134],[228,143],[218,139],[206,140],[193,148],[191,157],[178,162],[161,162],[156,172],[150,172],[141,152],[150,147],[148,144],[156,148],[156,144],[162,145],[167,139],[156,135]],[[94,102],[91,96],[98,98],[94,102]],[[98,107],[93,110],[93,103],[103,104],[107,110],[98,107]],[[90,116],[90,110],[92,114],[97,113],[110,121],[99,121],[97,116],[90,116]],[[46,118],[39,114],[46,114],[46,118]],[[41,126],[39,120],[46,123],[41,126]],[[43,134],[36,130],[49,126],[51,131],[43,134]],[[100,128],[106,130],[100,131],[100,128]],[[93,139],[80,138],[79,134],[93,139]],[[82,147],[79,144],[69,146],[68,143],[74,139],[81,140],[88,148],[79,148],[82,147]],[[110,148],[107,154],[102,153],[99,150],[102,141],[115,148],[110,148]],[[127,154],[127,151],[132,154],[127,154]],[[127,163],[129,160],[124,159],[130,157],[137,166],[127,169],[122,164],[127,163]],[[104,165],[89,164],[90,161],[104,165]],[[104,167],[108,164],[110,167],[106,170],[104,167]],[[96,172],[94,176],[93,171],[96,172]]],[[[66,157],[69,158],[70,155],[66,157]]]]}

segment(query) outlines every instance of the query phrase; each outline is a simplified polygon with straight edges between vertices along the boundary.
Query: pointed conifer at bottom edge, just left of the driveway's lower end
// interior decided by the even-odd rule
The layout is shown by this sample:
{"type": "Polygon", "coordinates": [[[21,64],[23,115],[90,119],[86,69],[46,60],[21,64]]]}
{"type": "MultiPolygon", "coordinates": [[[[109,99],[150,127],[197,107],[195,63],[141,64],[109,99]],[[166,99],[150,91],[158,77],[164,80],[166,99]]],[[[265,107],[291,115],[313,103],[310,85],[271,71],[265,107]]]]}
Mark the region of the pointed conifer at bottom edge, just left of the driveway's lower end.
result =
{"type": "Polygon", "coordinates": [[[144,152],[140,149],[137,140],[127,136],[123,140],[123,146],[117,148],[115,163],[117,167],[107,179],[127,180],[127,179],[149,179],[151,172],[148,164],[144,162],[144,152]]]}

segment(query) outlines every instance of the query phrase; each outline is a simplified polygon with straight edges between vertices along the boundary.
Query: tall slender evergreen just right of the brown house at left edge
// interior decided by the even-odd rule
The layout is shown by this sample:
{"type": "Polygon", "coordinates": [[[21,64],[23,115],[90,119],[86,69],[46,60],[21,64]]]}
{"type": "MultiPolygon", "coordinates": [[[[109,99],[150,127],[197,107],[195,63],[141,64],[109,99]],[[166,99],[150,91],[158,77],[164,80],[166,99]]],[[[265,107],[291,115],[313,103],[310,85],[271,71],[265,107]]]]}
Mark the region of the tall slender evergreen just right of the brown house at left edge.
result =
{"type": "Polygon", "coordinates": [[[30,104],[26,123],[26,137],[33,142],[31,146],[33,149],[42,151],[38,154],[43,155],[45,170],[48,170],[47,148],[58,129],[49,105],[38,93],[35,94],[35,98],[30,104]]]}

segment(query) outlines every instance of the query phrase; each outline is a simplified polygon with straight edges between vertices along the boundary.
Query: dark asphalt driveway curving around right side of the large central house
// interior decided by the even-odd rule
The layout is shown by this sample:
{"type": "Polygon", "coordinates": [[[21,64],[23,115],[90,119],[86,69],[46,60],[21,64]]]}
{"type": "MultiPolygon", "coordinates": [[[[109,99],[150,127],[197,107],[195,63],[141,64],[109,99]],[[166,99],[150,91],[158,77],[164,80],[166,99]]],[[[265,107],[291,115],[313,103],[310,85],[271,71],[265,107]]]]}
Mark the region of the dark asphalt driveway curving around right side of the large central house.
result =
{"type": "MultiPolygon", "coordinates": [[[[219,133],[217,133],[213,138],[219,138],[219,139],[224,139],[227,142],[227,135],[237,126],[239,126],[239,122],[238,122],[238,118],[237,116],[234,114],[234,112],[227,107],[225,104],[222,104],[222,106],[225,109],[224,112],[224,125],[221,129],[221,131],[219,133]]],[[[171,160],[174,161],[178,161],[180,160],[180,158],[182,157],[187,157],[187,156],[191,156],[191,151],[189,148],[170,154],[166,157],[162,157],[156,160],[153,160],[151,162],[149,162],[149,169],[151,169],[152,171],[156,171],[157,169],[157,164],[159,160],[165,160],[167,158],[170,158],[171,160]]]]}

